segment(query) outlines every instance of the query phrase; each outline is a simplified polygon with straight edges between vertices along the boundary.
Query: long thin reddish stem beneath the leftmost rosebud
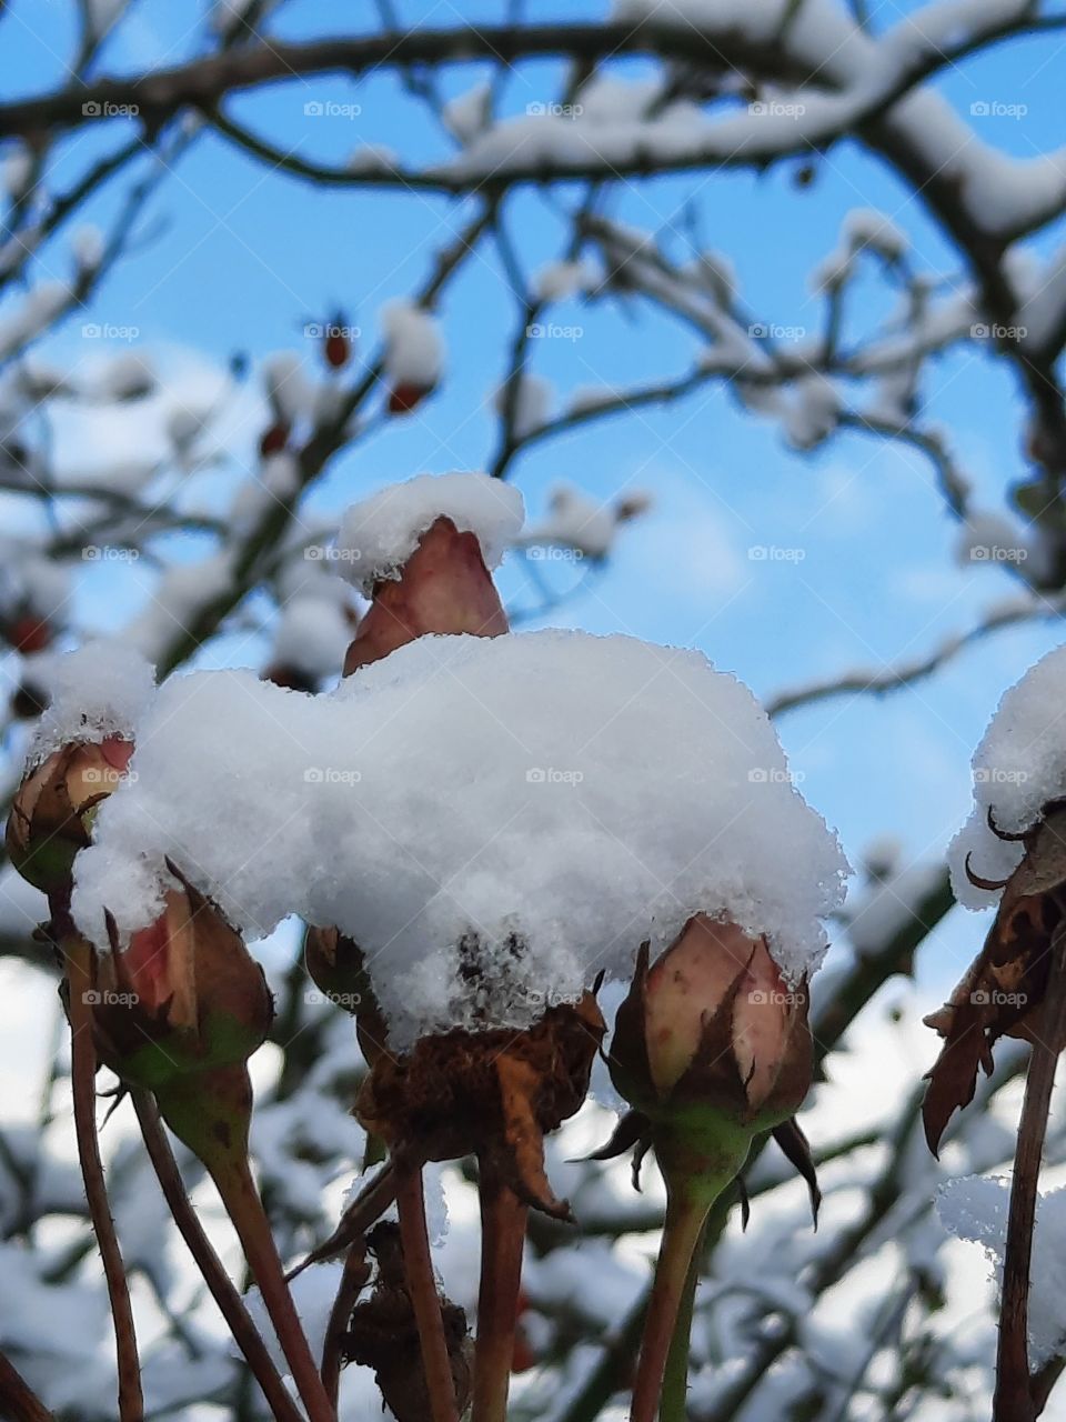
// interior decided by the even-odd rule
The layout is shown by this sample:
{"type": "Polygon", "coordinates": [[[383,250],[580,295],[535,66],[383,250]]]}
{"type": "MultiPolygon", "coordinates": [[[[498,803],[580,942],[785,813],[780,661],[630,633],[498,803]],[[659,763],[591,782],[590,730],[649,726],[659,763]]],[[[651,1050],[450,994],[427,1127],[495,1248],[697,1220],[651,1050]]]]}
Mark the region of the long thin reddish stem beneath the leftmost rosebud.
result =
{"type": "Polygon", "coordinates": [[[129,1283],[115,1234],[115,1221],[111,1217],[104,1162],[99,1158],[99,1139],[97,1136],[97,1048],[92,1041],[90,997],[92,990],[91,948],[80,939],[65,939],[63,947],[70,993],[74,1133],[78,1142],[78,1160],[81,1162],[81,1177],[85,1182],[92,1233],[104,1261],[104,1277],[115,1330],[118,1416],[119,1422],[142,1422],[145,1404],[141,1392],[141,1362],[136,1352],[129,1283]]]}

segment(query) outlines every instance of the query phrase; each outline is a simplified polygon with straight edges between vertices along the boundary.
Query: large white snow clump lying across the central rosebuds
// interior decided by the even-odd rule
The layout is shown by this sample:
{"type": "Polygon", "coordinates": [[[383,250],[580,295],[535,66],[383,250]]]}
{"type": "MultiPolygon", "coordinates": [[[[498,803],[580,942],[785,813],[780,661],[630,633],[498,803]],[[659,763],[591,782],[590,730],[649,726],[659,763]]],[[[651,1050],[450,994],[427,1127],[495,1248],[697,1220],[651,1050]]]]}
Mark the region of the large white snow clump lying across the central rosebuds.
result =
{"type": "Polygon", "coordinates": [[[630,637],[424,637],[320,697],[175,677],[136,741],[78,856],[82,930],[151,921],[169,856],[249,936],[290,913],[352,936],[397,1045],[524,1025],[698,910],[796,981],[847,872],[752,694],[630,637]]]}

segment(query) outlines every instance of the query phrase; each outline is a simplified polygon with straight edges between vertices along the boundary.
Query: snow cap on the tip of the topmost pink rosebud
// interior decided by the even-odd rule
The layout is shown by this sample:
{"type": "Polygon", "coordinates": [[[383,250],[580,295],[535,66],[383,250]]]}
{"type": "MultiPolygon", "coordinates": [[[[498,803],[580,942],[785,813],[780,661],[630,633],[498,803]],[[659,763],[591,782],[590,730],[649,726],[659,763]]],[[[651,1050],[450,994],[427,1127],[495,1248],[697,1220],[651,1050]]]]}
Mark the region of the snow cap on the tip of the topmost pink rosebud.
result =
{"type": "Polygon", "coordinates": [[[493,569],[522,529],[524,505],[517,489],[488,474],[421,474],[348,509],[337,539],[341,566],[370,596],[381,579],[399,576],[439,518],[451,519],[461,533],[473,533],[486,567],[493,569]]]}

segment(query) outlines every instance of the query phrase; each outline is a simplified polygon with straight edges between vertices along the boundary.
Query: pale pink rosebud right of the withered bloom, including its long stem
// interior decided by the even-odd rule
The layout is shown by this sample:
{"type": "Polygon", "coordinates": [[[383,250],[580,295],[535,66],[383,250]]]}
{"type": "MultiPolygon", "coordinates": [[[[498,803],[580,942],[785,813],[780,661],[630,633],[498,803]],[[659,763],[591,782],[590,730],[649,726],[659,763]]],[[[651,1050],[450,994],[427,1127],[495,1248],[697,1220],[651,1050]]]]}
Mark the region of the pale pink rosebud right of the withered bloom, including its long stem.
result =
{"type": "MultiPolygon", "coordinates": [[[[789,991],[763,937],[696,914],[651,970],[642,946],[608,1064],[637,1111],[600,1156],[654,1145],[667,1185],[630,1413],[651,1422],[671,1347],[687,1357],[681,1305],[708,1212],[739,1173],[755,1133],[783,1130],[810,1086],[806,983],[789,991]]],[[[782,1146],[803,1159],[806,1140],[795,1123],[782,1146]]]]}

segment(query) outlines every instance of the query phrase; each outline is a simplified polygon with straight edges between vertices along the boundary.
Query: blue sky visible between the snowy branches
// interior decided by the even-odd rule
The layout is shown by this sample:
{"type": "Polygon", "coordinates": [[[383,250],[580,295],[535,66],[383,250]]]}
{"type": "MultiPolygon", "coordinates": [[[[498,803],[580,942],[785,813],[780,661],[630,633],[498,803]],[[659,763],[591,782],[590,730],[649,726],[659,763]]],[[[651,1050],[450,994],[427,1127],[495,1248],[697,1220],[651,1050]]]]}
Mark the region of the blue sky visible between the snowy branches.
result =
{"type": "MultiPolygon", "coordinates": [[[[74,6],[65,0],[11,0],[0,17],[9,94],[53,87],[71,48],[74,6]]],[[[327,0],[290,0],[274,33],[298,38],[334,33],[355,10],[327,0]]],[[[500,3],[404,4],[408,23],[452,26],[497,18],[500,3]]],[[[874,28],[885,28],[910,7],[877,4],[874,28]]],[[[600,16],[593,4],[530,3],[532,21],[600,16]]],[[[176,63],[196,50],[203,10],[172,0],[141,0],[108,44],[98,71],[176,63]]],[[[358,24],[358,17],[354,21],[358,24]]],[[[981,135],[1019,156],[1062,142],[1062,63],[1057,40],[1026,41],[967,61],[938,81],[964,112],[979,100],[1023,104],[1022,118],[974,119],[981,135]]],[[[462,65],[442,75],[445,97],[463,92],[485,71],[462,65]]],[[[624,60],[613,73],[638,77],[642,61],[624,60]]],[[[523,68],[503,91],[505,112],[522,112],[560,90],[556,63],[523,68]]],[[[296,80],[242,95],[232,114],[284,148],[341,162],[358,144],[381,142],[412,164],[443,156],[446,142],[425,109],[391,74],[358,85],[343,78],[296,80]],[[308,118],[308,100],[358,102],[351,119],[308,118]]],[[[122,124],[85,125],[65,144],[57,186],[95,152],[118,144],[122,124]]],[[[816,327],[809,297],[812,266],[836,243],[840,222],[856,206],[880,208],[914,245],[917,260],[955,270],[945,246],[905,189],[854,145],[817,164],[812,186],[797,188],[795,164],[762,175],[671,176],[624,185],[610,213],[641,226],[671,230],[684,255],[679,215],[696,195],[709,246],[736,267],[745,303],[759,317],[816,327]]],[[[119,192],[121,189],[115,189],[119,192]]],[[[566,240],[560,208],[573,208],[574,186],[550,201],[536,191],[515,193],[506,208],[509,232],[529,273],[554,259],[566,240]]],[[[85,216],[105,222],[114,198],[85,216]]],[[[136,326],[139,343],[162,353],[173,368],[190,363],[223,367],[233,351],[253,364],[281,348],[306,348],[308,319],[343,307],[364,330],[370,351],[382,301],[404,296],[424,279],[432,253],[470,208],[418,193],[320,191],[269,172],[213,135],[205,135],[161,186],[145,225],[148,240],[92,301],[50,338],[45,351],[85,358],[81,323],[136,326]],[[158,220],[156,220],[158,219],[158,220]]],[[[1060,232],[1032,243],[1048,253],[1060,232]]],[[[43,253],[38,272],[65,270],[61,237],[43,253]]],[[[853,331],[885,309],[873,277],[858,287],[853,331]]],[[[479,468],[492,456],[495,418],[488,392],[500,380],[515,310],[496,255],[486,243],[449,287],[441,311],[449,347],[448,378],[422,410],[394,421],[334,461],[314,505],[335,510],[382,482],[424,469],[479,468]]],[[[560,324],[581,327],[580,340],[539,343],[533,370],[564,397],[577,385],[640,384],[679,375],[696,356],[692,334],[644,303],[584,306],[553,311],[560,324]]],[[[92,353],[97,354],[95,351],[92,353]]],[[[314,351],[308,348],[308,360],[314,351]]],[[[940,360],[924,384],[925,412],[947,425],[975,502],[999,508],[1006,486],[1023,478],[1019,402],[1012,378],[979,351],[940,360]]],[[[235,435],[247,459],[257,431],[235,435]]],[[[979,610],[1012,592],[998,567],[952,562],[957,529],[918,455],[839,437],[800,456],[775,427],[739,411],[726,391],[706,387],[685,402],[642,410],[588,425],[537,445],[513,466],[530,508],[543,506],[553,482],[573,481],[611,498],[641,488],[654,512],[627,530],[610,570],[554,620],[593,631],[624,630],[667,643],[701,647],[722,668],[736,671],[759,694],[853,667],[876,667],[917,656],[945,634],[964,630],[979,610]],[[800,562],[758,562],[753,545],[802,547],[800,562]]],[[[186,557],[193,549],[168,549],[186,557]]],[[[135,596],[112,572],[90,570],[87,613],[122,620],[135,596]]],[[[505,572],[513,590],[520,569],[505,572]]],[[[908,855],[942,849],[969,803],[968,758],[1001,693],[1036,656],[1059,640],[1055,626],[1012,631],[967,651],[934,681],[881,700],[841,698],[789,715],[780,732],[803,791],[840,828],[857,859],[874,835],[898,835],[908,855]]],[[[254,648],[242,643],[254,661],[254,648]]],[[[958,958],[976,944],[981,924],[952,914],[938,933],[927,973],[940,987],[958,958]]]]}

